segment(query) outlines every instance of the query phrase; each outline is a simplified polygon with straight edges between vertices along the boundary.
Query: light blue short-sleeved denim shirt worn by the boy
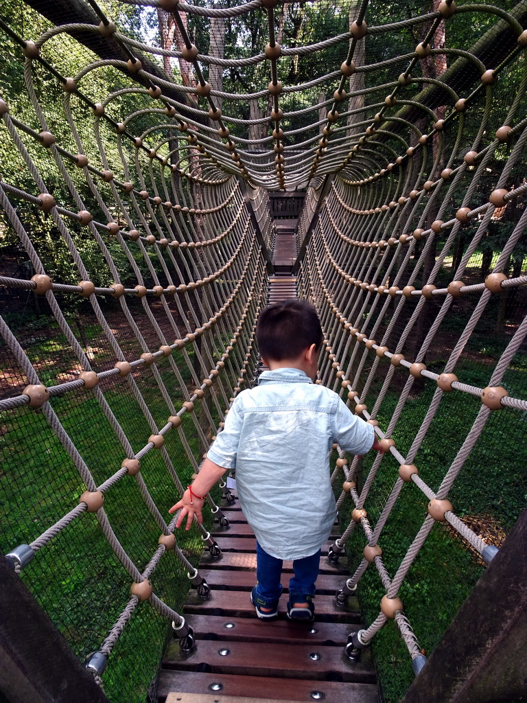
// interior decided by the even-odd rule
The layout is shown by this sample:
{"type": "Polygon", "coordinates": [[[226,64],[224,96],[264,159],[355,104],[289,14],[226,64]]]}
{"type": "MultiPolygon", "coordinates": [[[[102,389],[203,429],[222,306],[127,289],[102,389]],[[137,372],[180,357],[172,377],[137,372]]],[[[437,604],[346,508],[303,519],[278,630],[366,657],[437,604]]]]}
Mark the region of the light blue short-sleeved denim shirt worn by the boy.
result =
{"type": "Polygon", "coordinates": [[[374,430],[297,368],[264,371],[258,383],[235,398],[207,456],[235,469],[242,510],[263,549],[301,559],[323,546],[335,520],[332,444],[364,454],[374,430]]]}

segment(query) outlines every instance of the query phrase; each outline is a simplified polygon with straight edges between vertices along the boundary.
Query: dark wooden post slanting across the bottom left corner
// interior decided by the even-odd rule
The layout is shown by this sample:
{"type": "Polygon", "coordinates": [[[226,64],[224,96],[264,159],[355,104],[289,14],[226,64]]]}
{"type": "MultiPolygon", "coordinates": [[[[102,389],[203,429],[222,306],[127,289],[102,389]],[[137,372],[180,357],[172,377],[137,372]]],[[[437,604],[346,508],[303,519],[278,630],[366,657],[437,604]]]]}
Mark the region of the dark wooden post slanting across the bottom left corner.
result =
{"type": "Polygon", "coordinates": [[[108,703],[89,671],[0,555],[0,699],[108,703]]]}

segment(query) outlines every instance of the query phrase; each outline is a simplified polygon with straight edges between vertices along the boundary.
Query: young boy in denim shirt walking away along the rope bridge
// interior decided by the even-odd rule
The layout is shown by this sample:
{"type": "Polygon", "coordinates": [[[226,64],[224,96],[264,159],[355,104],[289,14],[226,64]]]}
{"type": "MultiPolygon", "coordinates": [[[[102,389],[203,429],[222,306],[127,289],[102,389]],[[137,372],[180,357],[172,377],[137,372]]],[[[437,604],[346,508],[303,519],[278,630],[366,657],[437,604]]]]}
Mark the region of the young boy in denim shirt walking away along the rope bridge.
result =
{"type": "Polygon", "coordinates": [[[289,299],[261,312],[256,339],[264,371],[258,386],[234,400],[225,427],[181,501],[176,527],[202,522],[204,496],[235,469],[238,497],[256,535],[256,586],[251,600],[260,619],[278,615],[282,560],[293,560],[289,619],[312,620],[320,548],[336,516],[330,453],[379,449],[372,425],[353,415],[329,388],[315,385],[323,333],[306,300],[289,299]]]}

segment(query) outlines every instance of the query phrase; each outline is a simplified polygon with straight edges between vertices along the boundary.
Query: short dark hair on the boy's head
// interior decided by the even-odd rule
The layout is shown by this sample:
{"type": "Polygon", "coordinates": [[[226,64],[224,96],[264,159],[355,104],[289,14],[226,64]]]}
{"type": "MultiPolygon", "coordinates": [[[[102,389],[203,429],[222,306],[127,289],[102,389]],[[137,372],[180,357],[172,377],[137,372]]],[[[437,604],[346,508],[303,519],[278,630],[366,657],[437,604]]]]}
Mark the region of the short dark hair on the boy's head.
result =
{"type": "Polygon", "coordinates": [[[323,340],[320,320],[307,300],[289,298],[273,303],[260,313],[256,340],[263,359],[297,359],[304,349],[323,340]]]}

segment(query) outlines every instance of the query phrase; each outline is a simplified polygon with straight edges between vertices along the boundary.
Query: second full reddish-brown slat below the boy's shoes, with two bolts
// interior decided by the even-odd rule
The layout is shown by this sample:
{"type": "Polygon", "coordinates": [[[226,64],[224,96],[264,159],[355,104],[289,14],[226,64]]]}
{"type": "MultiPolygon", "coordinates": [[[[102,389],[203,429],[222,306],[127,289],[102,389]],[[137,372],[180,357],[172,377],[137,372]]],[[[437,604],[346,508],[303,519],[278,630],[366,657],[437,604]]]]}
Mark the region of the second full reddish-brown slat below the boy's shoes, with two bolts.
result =
{"type": "MultiPolygon", "coordinates": [[[[371,663],[371,652],[363,652],[358,662],[350,662],[342,654],[342,647],[331,645],[276,645],[253,642],[229,642],[224,647],[221,641],[200,640],[190,654],[181,654],[177,642],[171,643],[164,659],[169,669],[174,665],[178,671],[197,671],[202,662],[207,662],[212,673],[244,674],[245,676],[279,676],[306,681],[324,681],[337,673],[340,681],[373,683],[375,673],[371,663]],[[226,656],[221,651],[228,650],[226,656]],[[311,659],[311,655],[318,659],[311,659]]],[[[199,670],[198,670],[199,671],[199,670]]]]}

